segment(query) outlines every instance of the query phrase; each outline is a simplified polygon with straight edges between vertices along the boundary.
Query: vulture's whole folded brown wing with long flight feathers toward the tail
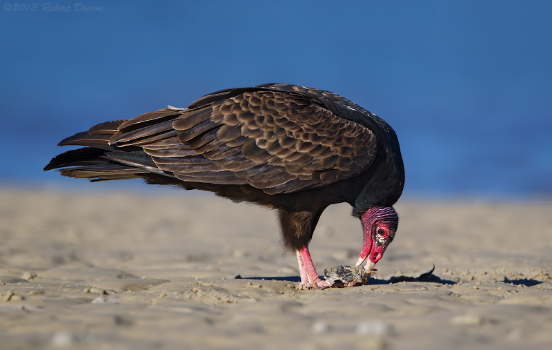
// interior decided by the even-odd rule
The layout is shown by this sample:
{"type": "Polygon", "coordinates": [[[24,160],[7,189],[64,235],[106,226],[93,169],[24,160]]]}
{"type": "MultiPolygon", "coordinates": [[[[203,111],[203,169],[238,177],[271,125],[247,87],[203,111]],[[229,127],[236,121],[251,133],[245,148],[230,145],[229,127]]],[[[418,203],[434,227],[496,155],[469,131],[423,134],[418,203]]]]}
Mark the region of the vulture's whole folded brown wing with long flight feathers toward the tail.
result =
{"type": "MultiPolygon", "coordinates": [[[[117,162],[119,173],[124,166],[135,167],[184,182],[249,184],[268,194],[355,176],[371,164],[376,151],[368,128],[298,93],[255,88],[206,95],[190,109],[98,124],[61,144],[110,150],[101,161],[97,150],[80,152],[95,162],[117,162]]],[[[63,155],[57,165],[78,165],[67,160],[76,153],[63,155]]]]}

